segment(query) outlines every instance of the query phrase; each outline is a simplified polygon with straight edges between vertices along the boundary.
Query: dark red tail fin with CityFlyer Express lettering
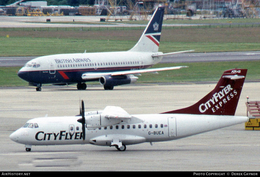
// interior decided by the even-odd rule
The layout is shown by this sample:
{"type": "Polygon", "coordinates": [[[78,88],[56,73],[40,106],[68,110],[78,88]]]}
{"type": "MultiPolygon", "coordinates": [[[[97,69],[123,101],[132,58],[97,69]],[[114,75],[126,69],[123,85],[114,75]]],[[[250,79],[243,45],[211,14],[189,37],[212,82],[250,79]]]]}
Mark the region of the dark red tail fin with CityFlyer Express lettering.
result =
{"type": "Polygon", "coordinates": [[[235,115],[247,69],[224,71],[216,87],[190,107],[162,114],[235,115]]]}

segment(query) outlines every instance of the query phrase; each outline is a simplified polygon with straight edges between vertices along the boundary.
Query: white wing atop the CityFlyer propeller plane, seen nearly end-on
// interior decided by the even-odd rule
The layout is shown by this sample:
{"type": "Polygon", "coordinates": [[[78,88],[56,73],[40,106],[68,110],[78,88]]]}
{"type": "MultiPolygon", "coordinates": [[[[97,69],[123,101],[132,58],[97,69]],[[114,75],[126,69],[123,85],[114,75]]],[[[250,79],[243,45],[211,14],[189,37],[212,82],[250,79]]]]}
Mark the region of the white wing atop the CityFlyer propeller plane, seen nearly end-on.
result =
{"type": "Polygon", "coordinates": [[[118,106],[107,106],[101,113],[101,116],[105,116],[107,119],[130,119],[132,117],[118,106]]]}

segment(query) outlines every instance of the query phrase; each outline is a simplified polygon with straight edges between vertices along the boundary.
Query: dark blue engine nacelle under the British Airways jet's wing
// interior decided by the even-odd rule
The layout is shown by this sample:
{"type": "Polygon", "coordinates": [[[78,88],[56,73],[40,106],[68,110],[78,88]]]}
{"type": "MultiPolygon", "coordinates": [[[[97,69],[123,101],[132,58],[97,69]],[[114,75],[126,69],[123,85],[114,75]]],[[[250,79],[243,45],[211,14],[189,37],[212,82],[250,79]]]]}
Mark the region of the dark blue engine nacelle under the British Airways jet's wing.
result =
{"type": "Polygon", "coordinates": [[[135,83],[138,77],[134,75],[120,75],[120,76],[102,76],[99,78],[99,82],[106,86],[120,86],[124,84],[135,83]]]}

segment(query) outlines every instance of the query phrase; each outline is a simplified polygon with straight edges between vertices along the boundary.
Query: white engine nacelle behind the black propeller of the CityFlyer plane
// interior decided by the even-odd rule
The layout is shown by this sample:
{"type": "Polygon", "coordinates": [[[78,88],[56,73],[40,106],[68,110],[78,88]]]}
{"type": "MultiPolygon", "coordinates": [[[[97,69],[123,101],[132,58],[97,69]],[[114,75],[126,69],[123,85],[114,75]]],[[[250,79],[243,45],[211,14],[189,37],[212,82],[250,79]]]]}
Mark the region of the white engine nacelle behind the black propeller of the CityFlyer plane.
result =
{"type": "Polygon", "coordinates": [[[87,129],[96,129],[99,127],[107,127],[120,123],[120,119],[106,118],[102,114],[86,116],[87,129]]]}

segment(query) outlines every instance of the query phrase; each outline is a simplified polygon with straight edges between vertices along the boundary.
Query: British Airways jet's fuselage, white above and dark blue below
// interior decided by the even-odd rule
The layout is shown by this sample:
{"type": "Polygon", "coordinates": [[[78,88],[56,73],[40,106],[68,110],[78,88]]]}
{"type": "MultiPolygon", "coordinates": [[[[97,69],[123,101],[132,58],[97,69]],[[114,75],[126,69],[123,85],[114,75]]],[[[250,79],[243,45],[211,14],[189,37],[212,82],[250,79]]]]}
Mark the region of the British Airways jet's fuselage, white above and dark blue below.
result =
{"type": "Polygon", "coordinates": [[[18,72],[18,76],[30,83],[79,83],[82,74],[109,73],[116,71],[149,68],[161,61],[162,56],[152,57],[161,52],[104,52],[58,54],[35,58],[18,72]]]}

